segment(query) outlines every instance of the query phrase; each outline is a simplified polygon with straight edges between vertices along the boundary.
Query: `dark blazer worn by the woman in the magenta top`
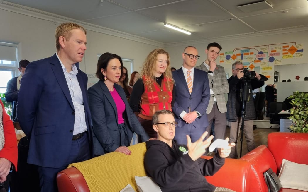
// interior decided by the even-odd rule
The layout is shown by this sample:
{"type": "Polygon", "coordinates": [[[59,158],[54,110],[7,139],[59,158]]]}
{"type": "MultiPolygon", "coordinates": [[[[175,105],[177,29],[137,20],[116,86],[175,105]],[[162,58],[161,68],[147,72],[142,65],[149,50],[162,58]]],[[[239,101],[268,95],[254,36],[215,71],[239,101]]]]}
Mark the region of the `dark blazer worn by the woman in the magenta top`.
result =
{"type": "MultiPolygon", "coordinates": [[[[123,112],[126,132],[128,134],[128,144],[132,140],[133,132],[141,136],[141,140],[147,141],[148,134],[140,125],[136,115],[132,112],[125,96],[124,89],[114,84],[115,90],[124,101],[125,111],[123,112]]],[[[99,80],[88,89],[89,107],[93,122],[93,148],[95,155],[103,155],[115,151],[121,146],[120,129],[118,128],[118,113],[106,84],[99,80]]]]}

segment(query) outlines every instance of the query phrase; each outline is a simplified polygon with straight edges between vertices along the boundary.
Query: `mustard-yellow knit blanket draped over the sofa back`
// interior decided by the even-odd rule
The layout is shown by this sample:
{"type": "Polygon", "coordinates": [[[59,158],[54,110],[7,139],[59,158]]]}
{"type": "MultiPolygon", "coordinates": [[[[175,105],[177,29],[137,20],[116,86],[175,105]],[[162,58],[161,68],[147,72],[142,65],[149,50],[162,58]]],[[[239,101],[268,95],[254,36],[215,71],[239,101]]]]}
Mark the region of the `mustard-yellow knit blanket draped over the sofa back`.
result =
{"type": "Polygon", "coordinates": [[[68,168],[76,167],[83,174],[91,192],[119,192],[128,184],[138,191],[135,176],[146,176],[145,142],[128,148],[132,151],[131,155],[111,152],[80,163],[72,163],[68,168]]]}

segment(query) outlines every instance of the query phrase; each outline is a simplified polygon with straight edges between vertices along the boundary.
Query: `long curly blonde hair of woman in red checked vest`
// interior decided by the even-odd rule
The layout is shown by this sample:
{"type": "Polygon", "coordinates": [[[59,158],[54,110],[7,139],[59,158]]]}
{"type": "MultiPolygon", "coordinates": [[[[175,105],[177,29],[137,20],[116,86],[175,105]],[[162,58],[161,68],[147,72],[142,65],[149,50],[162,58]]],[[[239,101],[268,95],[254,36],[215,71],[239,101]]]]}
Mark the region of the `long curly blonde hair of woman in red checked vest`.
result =
{"type": "Polygon", "coordinates": [[[155,81],[155,76],[154,76],[154,72],[155,72],[155,68],[156,68],[156,59],[157,59],[157,55],[158,54],[165,54],[167,55],[168,58],[168,62],[167,62],[167,68],[165,70],[164,74],[164,78],[168,78],[172,81],[172,83],[174,83],[174,80],[172,78],[172,73],[171,73],[171,67],[170,67],[170,57],[169,57],[169,53],[167,51],[165,51],[164,49],[154,49],[153,51],[151,51],[148,56],[145,58],[145,61],[143,62],[143,66],[140,72],[140,76],[144,76],[146,79],[146,84],[150,85],[152,84],[153,81],[155,81]]]}

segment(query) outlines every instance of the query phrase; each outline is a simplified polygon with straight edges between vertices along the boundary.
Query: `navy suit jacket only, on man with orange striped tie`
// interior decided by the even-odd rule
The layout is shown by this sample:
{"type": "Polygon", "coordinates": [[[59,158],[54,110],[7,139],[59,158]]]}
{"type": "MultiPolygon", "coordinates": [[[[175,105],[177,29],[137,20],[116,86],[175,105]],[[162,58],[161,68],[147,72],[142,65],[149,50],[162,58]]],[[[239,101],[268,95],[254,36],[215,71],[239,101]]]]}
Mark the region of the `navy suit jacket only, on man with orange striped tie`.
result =
{"type": "Polygon", "coordinates": [[[188,123],[180,117],[180,114],[185,111],[189,113],[189,106],[192,111],[197,111],[201,117],[197,117],[193,121],[193,126],[196,128],[207,127],[209,125],[206,116],[206,108],[209,105],[210,88],[207,73],[200,69],[194,69],[193,90],[189,93],[186,77],[184,76],[182,68],[173,71],[172,77],[174,79],[174,104],[172,112],[175,114],[175,121],[178,123],[177,128],[188,126],[188,123]]]}

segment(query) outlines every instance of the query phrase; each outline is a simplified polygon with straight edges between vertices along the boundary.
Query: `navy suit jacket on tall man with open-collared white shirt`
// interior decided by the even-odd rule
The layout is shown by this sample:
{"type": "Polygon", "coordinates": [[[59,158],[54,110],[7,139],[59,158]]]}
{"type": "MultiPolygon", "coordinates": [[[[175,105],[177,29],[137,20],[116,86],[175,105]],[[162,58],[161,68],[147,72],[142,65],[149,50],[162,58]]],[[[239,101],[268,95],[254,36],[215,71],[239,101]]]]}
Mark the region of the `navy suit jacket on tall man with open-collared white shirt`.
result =
{"type": "MultiPolygon", "coordinates": [[[[87,75],[78,69],[77,79],[92,151],[87,75]]],[[[28,163],[53,168],[64,166],[71,150],[75,109],[56,54],[27,65],[18,92],[17,117],[30,139],[28,163]]]]}

